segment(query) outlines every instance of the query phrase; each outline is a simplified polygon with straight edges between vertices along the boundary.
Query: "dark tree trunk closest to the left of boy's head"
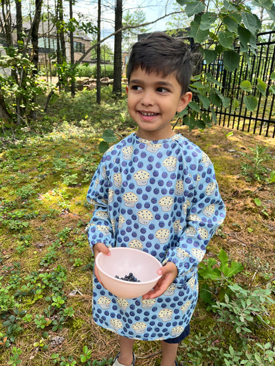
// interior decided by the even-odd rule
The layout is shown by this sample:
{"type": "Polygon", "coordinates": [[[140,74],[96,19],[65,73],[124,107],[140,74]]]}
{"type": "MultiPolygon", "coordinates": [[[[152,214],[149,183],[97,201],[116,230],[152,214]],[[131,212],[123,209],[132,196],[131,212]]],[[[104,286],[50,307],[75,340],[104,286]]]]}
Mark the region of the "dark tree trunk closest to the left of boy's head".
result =
{"type": "MultiPolygon", "coordinates": [[[[122,28],[122,0],[116,0],[115,5],[115,31],[122,28]]],[[[113,94],[121,96],[122,73],[122,32],[115,34],[115,49],[113,55],[113,94]]]]}

